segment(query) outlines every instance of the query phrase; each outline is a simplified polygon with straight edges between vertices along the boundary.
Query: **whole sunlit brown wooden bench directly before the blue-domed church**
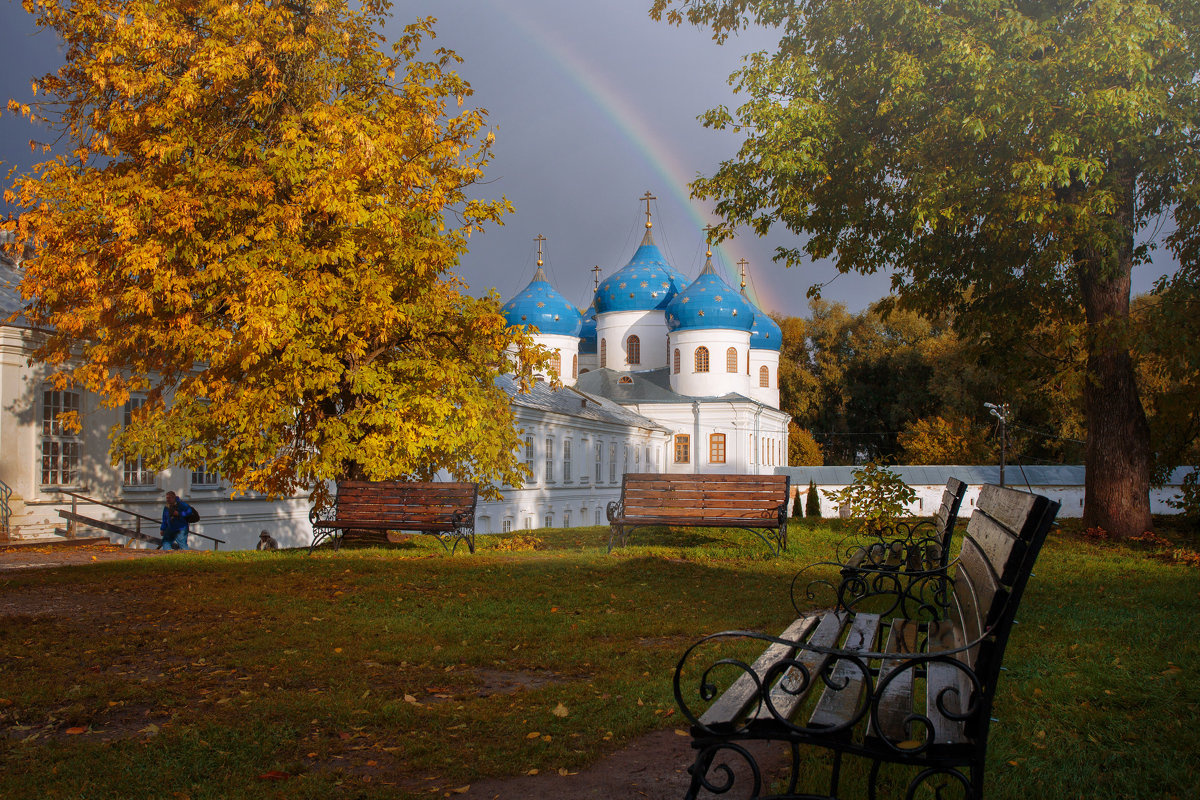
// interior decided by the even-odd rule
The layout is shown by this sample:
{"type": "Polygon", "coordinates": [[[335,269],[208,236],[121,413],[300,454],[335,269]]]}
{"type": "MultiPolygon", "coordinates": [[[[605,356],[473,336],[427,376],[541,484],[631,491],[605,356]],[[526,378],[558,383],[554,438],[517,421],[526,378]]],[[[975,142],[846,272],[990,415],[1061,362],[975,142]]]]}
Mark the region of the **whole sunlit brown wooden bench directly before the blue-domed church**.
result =
{"type": "Polygon", "coordinates": [[[637,528],[668,525],[740,528],[780,553],[787,548],[790,489],[786,475],[626,473],[620,499],[608,504],[608,551],[637,528]]]}

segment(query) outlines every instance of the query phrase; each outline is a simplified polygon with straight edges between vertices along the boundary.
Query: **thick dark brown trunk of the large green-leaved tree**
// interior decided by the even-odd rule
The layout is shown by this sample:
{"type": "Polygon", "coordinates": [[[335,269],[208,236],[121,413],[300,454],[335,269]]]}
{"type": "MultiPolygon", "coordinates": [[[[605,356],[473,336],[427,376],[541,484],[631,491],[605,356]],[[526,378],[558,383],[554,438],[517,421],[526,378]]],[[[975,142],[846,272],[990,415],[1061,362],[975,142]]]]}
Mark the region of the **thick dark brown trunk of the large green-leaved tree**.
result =
{"type": "Polygon", "coordinates": [[[1084,524],[1127,539],[1153,529],[1150,516],[1150,425],[1129,356],[1129,284],[1133,272],[1133,190],[1116,222],[1130,231],[1115,248],[1084,255],[1080,289],[1087,320],[1087,475],[1084,524]]]}

